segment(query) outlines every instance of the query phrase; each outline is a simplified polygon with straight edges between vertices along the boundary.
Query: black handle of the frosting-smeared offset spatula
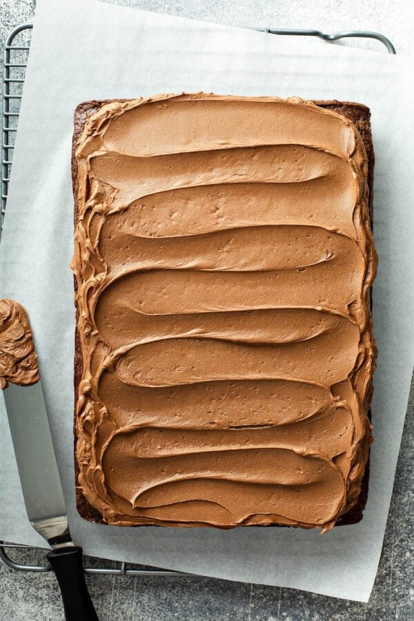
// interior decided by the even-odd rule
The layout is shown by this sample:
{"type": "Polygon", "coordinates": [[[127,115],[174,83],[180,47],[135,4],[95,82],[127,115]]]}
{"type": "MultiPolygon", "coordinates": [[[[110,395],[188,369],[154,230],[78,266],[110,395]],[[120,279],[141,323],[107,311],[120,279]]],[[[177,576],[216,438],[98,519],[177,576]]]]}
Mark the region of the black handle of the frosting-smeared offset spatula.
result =
{"type": "Polygon", "coordinates": [[[82,549],[57,548],[46,554],[59,582],[66,621],[99,621],[83,575],[82,549]]]}

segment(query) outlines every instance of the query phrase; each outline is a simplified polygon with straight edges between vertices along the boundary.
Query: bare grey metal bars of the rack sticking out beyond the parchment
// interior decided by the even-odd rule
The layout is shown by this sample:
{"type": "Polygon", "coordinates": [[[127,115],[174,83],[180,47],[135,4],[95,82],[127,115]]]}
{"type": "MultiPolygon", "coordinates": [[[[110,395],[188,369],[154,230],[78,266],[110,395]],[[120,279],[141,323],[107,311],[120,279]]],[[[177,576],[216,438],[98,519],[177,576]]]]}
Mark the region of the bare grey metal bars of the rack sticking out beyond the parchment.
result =
{"type": "MultiPolygon", "coordinates": [[[[14,69],[26,69],[26,62],[13,62],[12,55],[14,52],[28,52],[30,49],[30,43],[28,45],[14,45],[14,39],[18,37],[18,35],[26,31],[31,32],[32,23],[22,23],[14,30],[8,34],[6,39],[6,45],[4,48],[4,70],[3,70],[3,115],[1,118],[1,211],[0,211],[0,235],[1,229],[3,228],[3,217],[6,210],[6,200],[8,195],[8,183],[10,180],[10,168],[12,164],[12,154],[14,150],[14,144],[10,143],[10,134],[12,132],[17,131],[17,127],[10,127],[8,119],[19,118],[19,111],[11,110],[12,102],[14,102],[14,107],[18,107],[20,110],[20,101],[21,94],[14,95],[10,92],[10,86],[12,84],[23,84],[24,77],[16,78],[12,77],[12,70],[14,69]]],[[[294,30],[294,29],[280,29],[280,28],[255,28],[255,30],[262,30],[263,32],[269,32],[270,34],[284,34],[284,35],[293,35],[293,36],[304,36],[304,37],[318,37],[319,39],[323,39],[324,41],[333,42],[338,41],[339,39],[346,38],[362,38],[362,39],[376,39],[384,44],[389,54],[395,54],[395,47],[393,43],[387,37],[384,37],[384,34],[380,32],[368,32],[366,30],[346,30],[344,32],[337,32],[334,34],[329,34],[326,32],[321,32],[320,30],[294,30]]],[[[51,571],[50,565],[32,565],[32,564],[21,564],[16,562],[10,558],[7,553],[8,549],[23,549],[30,550],[32,549],[30,546],[26,546],[23,544],[12,544],[0,541],[0,559],[8,566],[10,569],[15,569],[19,571],[33,571],[33,572],[43,572],[43,571],[51,571]]],[[[168,575],[168,576],[177,576],[177,577],[185,577],[191,574],[182,573],[179,571],[170,571],[169,569],[148,569],[146,567],[141,567],[137,565],[128,566],[126,562],[120,562],[119,567],[85,567],[85,573],[88,574],[110,574],[110,575],[168,575]]]]}

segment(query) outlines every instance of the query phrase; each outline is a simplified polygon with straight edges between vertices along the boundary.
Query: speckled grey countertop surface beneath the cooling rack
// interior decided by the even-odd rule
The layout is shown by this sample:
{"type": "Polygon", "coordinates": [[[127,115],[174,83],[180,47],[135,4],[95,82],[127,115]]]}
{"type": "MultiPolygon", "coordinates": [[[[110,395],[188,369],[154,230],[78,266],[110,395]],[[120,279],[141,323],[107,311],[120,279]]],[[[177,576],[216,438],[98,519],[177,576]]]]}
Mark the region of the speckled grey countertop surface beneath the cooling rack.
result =
{"type": "MultiPolygon", "coordinates": [[[[58,1],[58,0],[57,0],[58,1]]],[[[397,53],[414,55],[411,0],[111,0],[233,26],[377,30],[397,53]],[[305,6],[304,6],[305,5],[305,6]]],[[[34,14],[35,0],[0,0],[0,47],[8,32],[34,14]]],[[[353,44],[356,44],[353,41],[353,44]]],[[[380,43],[358,41],[378,48],[380,43]]],[[[1,68],[2,69],[2,68],[1,68]]],[[[393,499],[377,580],[368,604],[213,578],[88,576],[101,621],[393,621],[414,620],[414,386],[397,466],[393,499]]],[[[392,416],[392,413],[390,412],[392,416]]],[[[1,484],[1,483],[0,483],[1,484]]],[[[20,562],[42,562],[38,551],[14,553],[20,562]]],[[[101,564],[90,560],[89,565],[101,564]]],[[[110,562],[111,566],[117,563],[110,562]]],[[[13,571],[0,562],[0,621],[63,619],[55,577],[13,571]]]]}

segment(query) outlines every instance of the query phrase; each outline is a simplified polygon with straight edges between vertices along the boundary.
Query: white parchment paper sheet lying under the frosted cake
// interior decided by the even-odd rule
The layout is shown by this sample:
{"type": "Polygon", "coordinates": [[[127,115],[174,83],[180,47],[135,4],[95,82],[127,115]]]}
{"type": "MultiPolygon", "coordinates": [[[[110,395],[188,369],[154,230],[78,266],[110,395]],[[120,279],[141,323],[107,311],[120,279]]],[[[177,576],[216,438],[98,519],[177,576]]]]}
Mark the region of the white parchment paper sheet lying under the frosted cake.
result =
{"type": "MultiPolygon", "coordinates": [[[[259,26],[259,24],[258,24],[259,26]]],[[[214,26],[93,0],[38,0],[3,239],[0,296],[28,309],[70,529],[85,553],[366,602],[380,558],[414,357],[413,59],[214,26]],[[72,114],[86,99],[157,92],[300,95],[372,111],[375,374],[364,520],[324,536],[297,529],[117,528],[75,509],[72,456],[72,114]]],[[[335,208],[335,206],[333,206],[335,208]]],[[[3,410],[3,401],[1,400],[3,410]]],[[[0,413],[0,537],[44,546],[28,523],[0,413]]]]}

